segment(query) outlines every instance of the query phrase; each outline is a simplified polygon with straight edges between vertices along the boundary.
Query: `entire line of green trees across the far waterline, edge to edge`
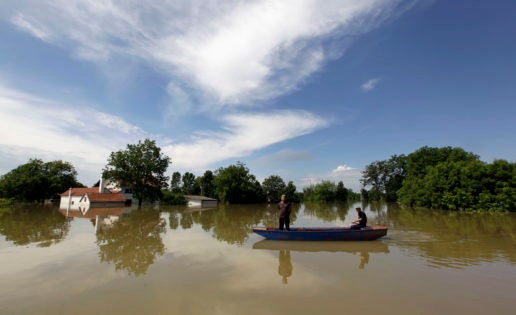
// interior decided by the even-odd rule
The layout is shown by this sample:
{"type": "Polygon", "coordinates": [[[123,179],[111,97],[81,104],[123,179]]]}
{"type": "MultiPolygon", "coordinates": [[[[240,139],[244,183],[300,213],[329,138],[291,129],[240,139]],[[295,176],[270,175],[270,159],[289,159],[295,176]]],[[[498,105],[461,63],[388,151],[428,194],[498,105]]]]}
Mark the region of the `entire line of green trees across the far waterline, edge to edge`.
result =
{"type": "MultiPolygon", "coordinates": [[[[302,192],[292,181],[286,183],[278,175],[260,183],[242,162],[206,170],[198,177],[191,172],[173,172],[169,177],[165,172],[170,161],[154,141],[145,139],[112,152],[102,176],[129,187],[139,205],[143,199],[184,204],[185,195],[202,195],[231,204],[275,203],[285,194],[292,202],[363,199],[410,207],[516,211],[515,163],[485,163],[462,148],[425,146],[408,155],[370,163],[362,172],[364,188],[360,194],[342,182],[322,181],[302,192]]],[[[84,187],[71,163],[30,159],[0,177],[0,204],[6,200],[43,202],[59,198],[69,187],[84,187]]]]}

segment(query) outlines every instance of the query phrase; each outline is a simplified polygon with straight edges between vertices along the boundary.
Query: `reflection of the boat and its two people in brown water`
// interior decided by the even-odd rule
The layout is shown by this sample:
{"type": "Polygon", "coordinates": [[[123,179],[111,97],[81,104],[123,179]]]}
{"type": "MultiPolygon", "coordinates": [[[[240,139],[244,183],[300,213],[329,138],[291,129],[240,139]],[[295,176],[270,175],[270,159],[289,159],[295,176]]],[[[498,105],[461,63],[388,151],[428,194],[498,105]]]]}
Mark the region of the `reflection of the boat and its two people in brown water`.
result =
{"type": "Polygon", "coordinates": [[[389,246],[382,241],[371,242],[292,242],[261,240],[253,244],[253,249],[265,249],[279,252],[278,273],[282,276],[282,282],[287,283],[287,278],[292,276],[293,265],[290,252],[343,252],[360,257],[359,269],[364,269],[369,263],[370,254],[389,253],[389,246]]]}

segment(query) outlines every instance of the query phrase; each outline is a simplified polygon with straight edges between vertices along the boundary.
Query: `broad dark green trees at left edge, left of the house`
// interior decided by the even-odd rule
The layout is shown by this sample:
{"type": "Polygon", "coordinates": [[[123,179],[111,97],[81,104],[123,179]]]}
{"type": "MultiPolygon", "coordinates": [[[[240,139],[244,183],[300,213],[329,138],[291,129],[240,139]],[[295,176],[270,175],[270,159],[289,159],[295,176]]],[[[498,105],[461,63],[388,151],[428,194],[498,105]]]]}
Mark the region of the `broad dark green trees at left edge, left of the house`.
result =
{"type": "Polygon", "coordinates": [[[84,187],[69,162],[30,159],[0,178],[0,195],[17,201],[38,201],[59,195],[69,187],[84,187]]]}

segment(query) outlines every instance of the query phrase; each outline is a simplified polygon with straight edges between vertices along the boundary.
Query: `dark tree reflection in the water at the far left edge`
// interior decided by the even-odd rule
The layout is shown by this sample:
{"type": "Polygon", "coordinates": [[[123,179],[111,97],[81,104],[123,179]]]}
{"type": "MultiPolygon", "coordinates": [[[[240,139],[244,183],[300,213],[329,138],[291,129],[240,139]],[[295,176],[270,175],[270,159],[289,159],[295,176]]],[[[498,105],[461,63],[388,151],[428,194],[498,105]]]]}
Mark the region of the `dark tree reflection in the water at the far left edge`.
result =
{"type": "Polygon", "coordinates": [[[39,247],[49,247],[62,241],[69,230],[69,220],[55,208],[0,209],[0,234],[15,245],[36,243],[39,247]]]}

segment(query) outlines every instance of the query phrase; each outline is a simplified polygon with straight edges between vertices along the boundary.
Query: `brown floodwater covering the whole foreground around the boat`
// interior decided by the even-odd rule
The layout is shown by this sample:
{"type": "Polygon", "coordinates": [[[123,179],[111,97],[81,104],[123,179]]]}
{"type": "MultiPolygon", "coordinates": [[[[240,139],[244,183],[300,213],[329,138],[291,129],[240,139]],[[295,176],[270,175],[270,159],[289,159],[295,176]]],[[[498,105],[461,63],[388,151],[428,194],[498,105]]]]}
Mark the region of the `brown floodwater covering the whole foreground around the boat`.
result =
{"type": "MultiPolygon", "coordinates": [[[[352,205],[296,206],[342,226],[352,205]]],[[[516,214],[362,205],[371,242],[275,242],[274,206],[0,208],[0,314],[514,314],[516,214]]]]}

